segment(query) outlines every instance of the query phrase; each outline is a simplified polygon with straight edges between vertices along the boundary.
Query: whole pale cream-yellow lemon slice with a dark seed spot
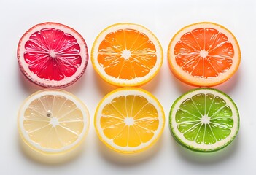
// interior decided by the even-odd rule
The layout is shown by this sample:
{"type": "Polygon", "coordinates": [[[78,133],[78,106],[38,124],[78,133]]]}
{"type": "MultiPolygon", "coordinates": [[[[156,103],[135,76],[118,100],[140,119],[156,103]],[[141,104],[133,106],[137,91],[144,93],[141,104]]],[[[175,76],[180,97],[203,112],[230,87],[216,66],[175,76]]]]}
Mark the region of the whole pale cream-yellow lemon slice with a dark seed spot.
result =
{"type": "Polygon", "coordinates": [[[18,112],[18,131],[32,149],[47,155],[77,147],[88,132],[88,109],[63,90],[39,90],[23,102],[18,112]]]}

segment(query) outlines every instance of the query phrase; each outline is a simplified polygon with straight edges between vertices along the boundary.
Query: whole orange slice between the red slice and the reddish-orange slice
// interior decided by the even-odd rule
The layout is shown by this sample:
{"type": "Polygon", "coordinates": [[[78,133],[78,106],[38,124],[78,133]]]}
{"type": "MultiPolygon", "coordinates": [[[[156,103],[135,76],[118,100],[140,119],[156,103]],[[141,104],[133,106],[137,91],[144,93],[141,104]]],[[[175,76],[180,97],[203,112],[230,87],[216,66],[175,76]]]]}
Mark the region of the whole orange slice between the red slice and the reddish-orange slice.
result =
{"type": "Polygon", "coordinates": [[[150,81],[158,73],[163,50],[147,28],[116,23],[97,36],[91,57],[93,68],[106,82],[137,86],[150,81]]]}

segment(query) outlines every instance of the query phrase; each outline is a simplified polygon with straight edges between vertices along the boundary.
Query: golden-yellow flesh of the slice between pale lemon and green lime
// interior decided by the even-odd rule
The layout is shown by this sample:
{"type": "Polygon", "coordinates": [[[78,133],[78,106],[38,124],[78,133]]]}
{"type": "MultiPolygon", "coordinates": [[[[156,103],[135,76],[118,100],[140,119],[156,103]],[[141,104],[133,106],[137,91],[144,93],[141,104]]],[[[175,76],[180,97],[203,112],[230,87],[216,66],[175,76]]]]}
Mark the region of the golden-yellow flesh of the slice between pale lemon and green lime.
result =
{"type": "Polygon", "coordinates": [[[158,112],[143,96],[119,96],[101,112],[104,135],[120,147],[138,147],[158,129],[158,112]]]}

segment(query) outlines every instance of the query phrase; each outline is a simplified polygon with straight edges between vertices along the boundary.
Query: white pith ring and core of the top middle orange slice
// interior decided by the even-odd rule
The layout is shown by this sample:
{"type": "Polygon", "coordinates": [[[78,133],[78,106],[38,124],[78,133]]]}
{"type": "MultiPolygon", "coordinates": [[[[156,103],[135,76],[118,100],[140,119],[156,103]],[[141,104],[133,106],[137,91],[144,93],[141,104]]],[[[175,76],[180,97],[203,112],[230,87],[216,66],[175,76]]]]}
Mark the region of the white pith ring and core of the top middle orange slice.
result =
{"type": "MultiPolygon", "coordinates": [[[[124,50],[125,51],[125,50],[124,50]]],[[[130,50],[127,50],[128,52],[131,52],[130,50]]],[[[123,52],[125,54],[125,58],[128,59],[128,52],[123,52]]],[[[101,34],[98,35],[98,38],[96,41],[93,43],[93,52],[92,52],[92,62],[93,65],[96,66],[96,71],[98,71],[98,74],[100,74],[101,77],[104,79],[107,79],[107,81],[115,84],[115,85],[139,85],[140,83],[143,84],[144,82],[147,82],[148,79],[151,79],[154,75],[155,72],[160,69],[160,66],[162,65],[163,62],[163,52],[162,52],[162,47],[160,46],[160,42],[158,42],[158,39],[149,31],[147,28],[144,28],[143,26],[139,26],[136,24],[132,23],[120,23],[115,26],[110,26],[109,28],[106,28],[104,31],[101,32],[101,34]],[[144,77],[136,77],[134,79],[120,79],[120,78],[115,78],[112,76],[109,76],[106,74],[104,71],[104,68],[98,63],[98,47],[101,44],[101,42],[105,39],[105,36],[111,32],[117,31],[119,29],[127,29],[131,28],[134,30],[137,30],[141,33],[146,34],[150,41],[155,45],[155,55],[157,56],[157,61],[155,63],[155,66],[150,70],[150,72],[145,75],[144,77]]]]}

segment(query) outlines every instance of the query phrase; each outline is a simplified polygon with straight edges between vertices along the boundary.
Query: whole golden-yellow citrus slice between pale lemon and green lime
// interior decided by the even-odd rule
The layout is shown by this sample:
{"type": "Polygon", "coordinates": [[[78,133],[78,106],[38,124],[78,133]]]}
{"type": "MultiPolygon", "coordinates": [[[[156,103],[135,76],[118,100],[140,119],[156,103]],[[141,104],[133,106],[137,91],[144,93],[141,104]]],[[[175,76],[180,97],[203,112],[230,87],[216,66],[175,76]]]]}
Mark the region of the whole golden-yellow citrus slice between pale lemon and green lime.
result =
{"type": "Polygon", "coordinates": [[[163,132],[164,123],[159,101],[140,88],[120,88],[107,94],[94,117],[99,139],[121,153],[151,147],[163,132]]]}

